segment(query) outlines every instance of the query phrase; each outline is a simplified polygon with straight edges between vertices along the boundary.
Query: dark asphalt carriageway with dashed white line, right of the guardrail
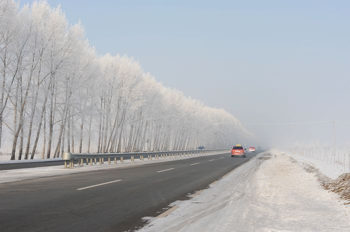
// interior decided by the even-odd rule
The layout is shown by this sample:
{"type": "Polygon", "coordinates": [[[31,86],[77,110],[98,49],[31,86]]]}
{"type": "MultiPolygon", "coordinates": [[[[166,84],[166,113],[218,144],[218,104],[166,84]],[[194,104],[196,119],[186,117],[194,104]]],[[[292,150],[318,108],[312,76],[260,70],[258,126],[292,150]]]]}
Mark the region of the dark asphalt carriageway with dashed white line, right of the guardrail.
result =
{"type": "MultiPolygon", "coordinates": [[[[257,153],[256,153],[257,154],[257,153]]],[[[230,154],[0,184],[1,232],[123,232],[248,161],[230,154]]]]}

